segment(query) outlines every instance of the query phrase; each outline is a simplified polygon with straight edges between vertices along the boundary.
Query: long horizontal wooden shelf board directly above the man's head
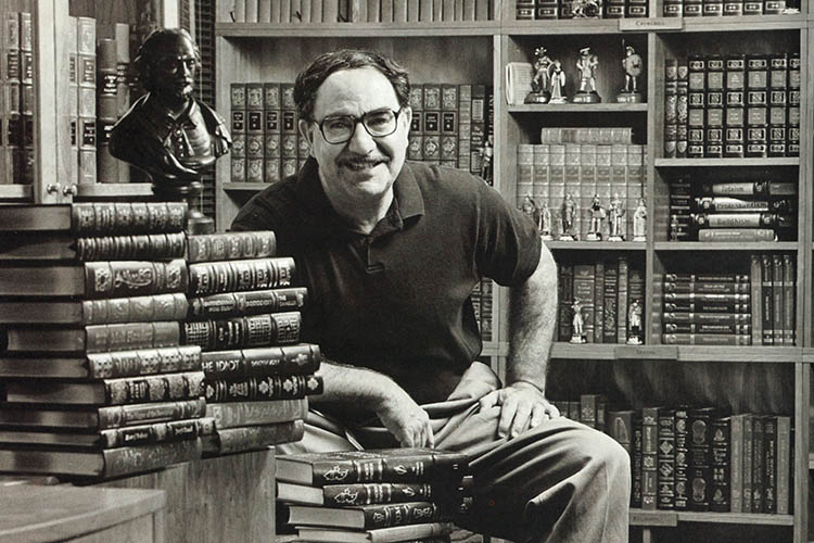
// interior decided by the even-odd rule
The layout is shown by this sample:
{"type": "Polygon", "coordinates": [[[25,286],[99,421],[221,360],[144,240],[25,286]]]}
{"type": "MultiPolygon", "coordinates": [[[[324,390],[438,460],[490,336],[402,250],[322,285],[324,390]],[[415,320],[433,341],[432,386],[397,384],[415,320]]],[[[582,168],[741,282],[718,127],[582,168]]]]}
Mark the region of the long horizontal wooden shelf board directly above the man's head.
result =
{"type": "Polygon", "coordinates": [[[383,38],[493,36],[500,30],[496,21],[447,23],[217,23],[215,35],[225,38],[383,38]]]}

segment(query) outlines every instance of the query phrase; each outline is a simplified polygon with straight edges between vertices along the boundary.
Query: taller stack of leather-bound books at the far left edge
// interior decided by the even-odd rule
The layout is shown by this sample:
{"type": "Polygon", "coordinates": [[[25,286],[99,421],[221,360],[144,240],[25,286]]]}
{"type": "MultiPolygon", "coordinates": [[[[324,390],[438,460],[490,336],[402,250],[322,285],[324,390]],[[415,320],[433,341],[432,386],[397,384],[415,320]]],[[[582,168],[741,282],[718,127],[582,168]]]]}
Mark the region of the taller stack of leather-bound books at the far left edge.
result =
{"type": "Polygon", "coordinates": [[[214,424],[201,350],[181,344],[186,216],[183,203],[0,213],[0,471],[110,478],[200,457],[214,424]]]}

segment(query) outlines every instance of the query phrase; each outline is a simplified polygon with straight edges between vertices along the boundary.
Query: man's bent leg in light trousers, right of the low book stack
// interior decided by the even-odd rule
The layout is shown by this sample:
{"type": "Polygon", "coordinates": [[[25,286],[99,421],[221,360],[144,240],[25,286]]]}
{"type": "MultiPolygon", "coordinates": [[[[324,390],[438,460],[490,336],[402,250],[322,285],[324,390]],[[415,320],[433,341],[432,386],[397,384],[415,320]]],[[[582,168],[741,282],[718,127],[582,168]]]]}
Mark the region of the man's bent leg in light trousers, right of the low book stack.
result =
{"type": "Polygon", "coordinates": [[[470,409],[440,449],[472,455],[474,506],[458,523],[518,543],[625,542],[629,457],[610,437],[567,418],[496,439],[499,407],[470,409]]]}

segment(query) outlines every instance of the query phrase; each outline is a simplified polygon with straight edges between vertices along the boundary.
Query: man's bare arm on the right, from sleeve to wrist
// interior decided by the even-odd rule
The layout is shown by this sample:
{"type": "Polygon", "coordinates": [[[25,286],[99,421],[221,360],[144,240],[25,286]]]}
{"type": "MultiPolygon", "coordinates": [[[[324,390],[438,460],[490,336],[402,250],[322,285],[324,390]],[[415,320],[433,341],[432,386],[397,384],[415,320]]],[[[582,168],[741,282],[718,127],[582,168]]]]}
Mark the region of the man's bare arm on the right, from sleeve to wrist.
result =
{"type": "Polygon", "coordinates": [[[511,289],[511,338],[506,379],[546,388],[548,355],[557,318],[557,264],[544,245],[537,269],[521,287],[511,289]]]}

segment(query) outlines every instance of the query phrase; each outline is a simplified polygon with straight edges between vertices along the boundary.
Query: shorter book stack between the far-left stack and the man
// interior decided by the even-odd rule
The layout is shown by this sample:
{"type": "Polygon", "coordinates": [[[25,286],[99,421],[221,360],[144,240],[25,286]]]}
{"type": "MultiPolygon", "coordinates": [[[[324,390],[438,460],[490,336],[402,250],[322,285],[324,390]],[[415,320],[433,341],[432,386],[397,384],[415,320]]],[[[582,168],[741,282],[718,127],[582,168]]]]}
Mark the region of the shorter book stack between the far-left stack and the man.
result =
{"type": "Polygon", "coordinates": [[[275,256],[270,230],[189,236],[188,245],[182,336],[203,350],[206,414],[216,427],[204,453],[298,441],[307,396],[322,391],[314,375],[322,355],[298,342],[307,290],[292,287],[294,260],[275,256]]]}

